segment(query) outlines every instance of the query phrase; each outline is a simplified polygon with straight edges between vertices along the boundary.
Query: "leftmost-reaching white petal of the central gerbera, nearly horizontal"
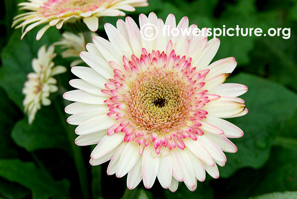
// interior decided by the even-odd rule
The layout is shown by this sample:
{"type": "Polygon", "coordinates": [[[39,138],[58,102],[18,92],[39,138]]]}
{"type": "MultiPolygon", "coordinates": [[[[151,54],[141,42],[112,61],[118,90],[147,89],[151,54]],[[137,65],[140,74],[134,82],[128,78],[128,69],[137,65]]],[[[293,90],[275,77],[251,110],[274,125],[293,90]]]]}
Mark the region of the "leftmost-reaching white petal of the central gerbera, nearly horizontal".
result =
{"type": "Polygon", "coordinates": [[[93,95],[82,90],[68,91],[63,94],[63,98],[69,101],[77,101],[89,104],[105,104],[104,100],[107,97],[93,95]]]}

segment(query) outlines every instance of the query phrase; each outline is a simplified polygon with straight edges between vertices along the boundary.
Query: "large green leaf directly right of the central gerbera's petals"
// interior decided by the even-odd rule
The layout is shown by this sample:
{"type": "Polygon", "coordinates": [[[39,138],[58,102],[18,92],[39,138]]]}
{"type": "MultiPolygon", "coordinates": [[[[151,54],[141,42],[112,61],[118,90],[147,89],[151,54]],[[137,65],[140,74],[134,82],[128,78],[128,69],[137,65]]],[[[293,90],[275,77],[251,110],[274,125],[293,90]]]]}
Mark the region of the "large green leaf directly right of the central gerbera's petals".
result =
{"type": "Polygon", "coordinates": [[[242,98],[246,100],[249,112],[243,117],[229,119],[245,135],[232,140],[238,152],[226,153],[227,162],[220,168],[221,177],[229,177],[243,167],[263,166],[280,124],[297,110],[297,95],[282,85],[244,73],[228,79],[228,82],[247,85],[248,91],[242,98]]]}

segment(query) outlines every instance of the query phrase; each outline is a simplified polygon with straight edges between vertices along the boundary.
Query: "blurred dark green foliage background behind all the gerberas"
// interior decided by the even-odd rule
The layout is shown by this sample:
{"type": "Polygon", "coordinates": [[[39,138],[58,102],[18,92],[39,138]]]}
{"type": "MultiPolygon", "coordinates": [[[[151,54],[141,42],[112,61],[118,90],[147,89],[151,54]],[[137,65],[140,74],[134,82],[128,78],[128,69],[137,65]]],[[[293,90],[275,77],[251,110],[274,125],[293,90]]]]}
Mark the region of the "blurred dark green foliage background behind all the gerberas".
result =
{"type": "MultiPolygon", "coordinates": [[[[17,3],[21,1],[0,1],[0,198],[297,198],[297,192],[263,195],[297,191],[297,0],[148,0],[148,7],[127,13],[137,22],[140,13],[148,15],[151,11],[163,20],[169,13],[177,21],[188,16],[190,24],[197,24],[198,28],[239,25],[262,28],[263,32],[269,28],[291,28],[290,39],[218,37],[221,46],[214,60],[234,56],[238,66],[227,81],[247,85],[249,89],[242,96],[249,113],[229,120],[245,135],[232,140],[238,152],[226,153],[227,163],[219,167],[219,179],[207,175],[205,182],[198,182],[195,192],[180,183],[174,194],[157,181],[150,190],[141,183],[129,191],[126,177],[107,176],[108,162],[92,167],[91,148],[75,146],[75,127],[58,119],[64,114],[61,93],[51,95],[53,103],[43,107],[35,122],[28,125],[21,89],[27,73],[32,71],[31,60],[42,45],[57,41],[61,33],[52,27],[36,41],[41,28],[37,27],[20,41],[21,30],[10,26],[13,17],[20,13],[17,3]]],[[[103,21],[115,25],[117,19],[105,17],[103,21]]],[[[102,26],[97,33],[106,38],[102,26]]],[[[54,62],[68,67],[72,59],[61,58],[61,51],[56,48],[58,56],[54,62]]],[[[71,90],[71,78],[69,70],[57,77],[66,90],[71,90]]]]}

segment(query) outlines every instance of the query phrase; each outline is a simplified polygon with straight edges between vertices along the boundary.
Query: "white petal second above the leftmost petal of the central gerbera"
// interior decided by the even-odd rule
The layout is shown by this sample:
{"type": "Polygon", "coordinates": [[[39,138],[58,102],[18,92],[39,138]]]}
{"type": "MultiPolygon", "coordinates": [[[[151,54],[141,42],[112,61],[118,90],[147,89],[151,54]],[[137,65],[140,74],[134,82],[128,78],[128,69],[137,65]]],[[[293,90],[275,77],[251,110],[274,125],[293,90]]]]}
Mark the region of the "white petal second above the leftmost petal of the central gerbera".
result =
{"type": "Polygon", "coordinates": [[[71,68],[71,72],[77,77],[101,89],[104,89],[104,84],[108,82],[106,78],[99,75],[94,69],[89,67],[74,66],[71,68]]]}

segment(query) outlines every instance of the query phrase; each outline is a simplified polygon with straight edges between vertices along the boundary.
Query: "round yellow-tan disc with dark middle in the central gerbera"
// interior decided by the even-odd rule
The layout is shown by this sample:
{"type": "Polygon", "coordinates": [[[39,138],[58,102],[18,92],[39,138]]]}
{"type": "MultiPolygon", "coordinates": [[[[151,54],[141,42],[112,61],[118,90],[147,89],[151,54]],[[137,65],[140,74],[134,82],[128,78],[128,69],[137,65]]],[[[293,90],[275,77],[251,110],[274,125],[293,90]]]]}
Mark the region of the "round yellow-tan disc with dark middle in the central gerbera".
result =
{"type": "Polygon", "coordinates": [[[164,132],[184,123],[187,113],[185,84],[174,74],[162,71],[145,72],[133,84],[126,98],[128,113],[148,131],[164,132]]]}

